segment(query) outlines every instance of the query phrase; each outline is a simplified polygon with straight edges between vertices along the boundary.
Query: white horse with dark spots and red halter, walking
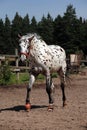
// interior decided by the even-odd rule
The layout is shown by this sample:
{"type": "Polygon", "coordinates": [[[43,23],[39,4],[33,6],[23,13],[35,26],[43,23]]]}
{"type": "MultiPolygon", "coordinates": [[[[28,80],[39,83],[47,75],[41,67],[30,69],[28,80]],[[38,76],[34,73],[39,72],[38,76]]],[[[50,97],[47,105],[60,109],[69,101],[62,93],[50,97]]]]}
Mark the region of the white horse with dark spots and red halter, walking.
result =
{"type": "MultiPolygon", "coordinates": [[[[27,87],[26,104],[30,105],[30,92],[36,77],[41,73],[46,77],[46,92],[49,98],[48,111],[54,108],[54,84],[52,73],[57,72],[60,77],[63,107],[66,105],[65,75],[66,75],[66,53],[58,45],[47,45],[37,34],[20,36],[20,59],[29,60],[30,78],[27,87]]],[[[30,107],[29,107],[30,108],[30,107]]]]}

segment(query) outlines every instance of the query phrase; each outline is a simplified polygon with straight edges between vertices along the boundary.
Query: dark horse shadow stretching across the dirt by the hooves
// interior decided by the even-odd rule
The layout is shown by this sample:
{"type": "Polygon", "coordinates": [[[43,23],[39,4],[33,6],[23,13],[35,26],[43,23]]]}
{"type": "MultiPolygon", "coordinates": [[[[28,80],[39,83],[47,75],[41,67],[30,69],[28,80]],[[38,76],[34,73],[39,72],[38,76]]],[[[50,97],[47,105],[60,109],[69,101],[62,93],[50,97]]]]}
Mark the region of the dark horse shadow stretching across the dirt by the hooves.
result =
{"type": "MultiPolygon", "coordinates": [[[[48,107],[48,106],[46,106],[46,105],[31,105],[31,109],[41,109],[41,108],[46,108],[46,107],[48,107]]],[[[18,106],[14,106],[14,107],[0,109],[0,112],[3,112],[3,111],[20,112],[20,111],[26,111],[26,109],[25,109],[24,105],[18,105],[18,106]]]]}

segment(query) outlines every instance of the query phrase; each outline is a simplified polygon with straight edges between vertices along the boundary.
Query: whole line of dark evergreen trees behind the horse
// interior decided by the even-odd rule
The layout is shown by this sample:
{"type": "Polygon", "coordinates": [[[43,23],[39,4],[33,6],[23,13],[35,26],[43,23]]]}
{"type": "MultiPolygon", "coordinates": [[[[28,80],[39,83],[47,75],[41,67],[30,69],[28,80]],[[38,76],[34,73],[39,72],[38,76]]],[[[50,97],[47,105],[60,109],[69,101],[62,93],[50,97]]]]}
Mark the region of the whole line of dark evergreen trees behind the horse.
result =
{"type": "Polygon", "coordinates": [[[18,48],[18,33],[29,32],[38,33],[49,45],[62,46],[67,54],[82,51],[87,55],[87,20],[77,18],[73,5],[68,5],[64,15],[54,20],[49,13],[37,22],[34,16],[30,20],[28,14],[21,17],[18,12],[12,21],[7,15],[4,22],[0,19],[0,54],[14,54],[18,48]]]}

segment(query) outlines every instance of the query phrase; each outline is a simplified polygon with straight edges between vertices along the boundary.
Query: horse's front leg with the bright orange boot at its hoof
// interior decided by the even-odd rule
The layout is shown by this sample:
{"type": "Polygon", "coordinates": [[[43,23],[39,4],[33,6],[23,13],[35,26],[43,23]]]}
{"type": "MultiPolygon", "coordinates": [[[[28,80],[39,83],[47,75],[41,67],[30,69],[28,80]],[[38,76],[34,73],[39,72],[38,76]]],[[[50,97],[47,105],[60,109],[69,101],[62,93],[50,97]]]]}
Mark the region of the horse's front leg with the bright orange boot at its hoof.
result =
{"type": "Polygon", "coordinates": [[[34,82],[35,82],[35,76],[33,74],[30,74],[29,86],[27,87],[27,96],[26,96],[26,105],[25,105],[26,110],[29,110],[31,108],[30,93],[34,82]]]}

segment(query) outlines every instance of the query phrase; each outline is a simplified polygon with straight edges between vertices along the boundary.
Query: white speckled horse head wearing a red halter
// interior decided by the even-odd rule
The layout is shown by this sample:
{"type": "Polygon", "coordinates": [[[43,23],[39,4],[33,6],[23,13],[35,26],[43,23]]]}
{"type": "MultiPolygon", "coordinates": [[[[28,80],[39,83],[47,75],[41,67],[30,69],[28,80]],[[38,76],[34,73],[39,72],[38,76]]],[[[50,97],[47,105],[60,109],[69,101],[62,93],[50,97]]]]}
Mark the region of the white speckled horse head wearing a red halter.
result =
{"type": "Polygon", "coordinates": [[[25,61],[27,59],[27,57],[29,57],[29,52],[30,52],[30,43],[32,41],[32,39],[34,38],[33,36],[29,36],[29,35],[24,35],[24,36],[19,36],[19,46],[20,46],[20,59],[21,61],[25,61]]]}

